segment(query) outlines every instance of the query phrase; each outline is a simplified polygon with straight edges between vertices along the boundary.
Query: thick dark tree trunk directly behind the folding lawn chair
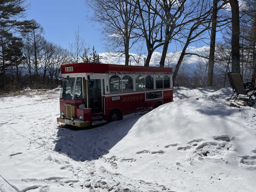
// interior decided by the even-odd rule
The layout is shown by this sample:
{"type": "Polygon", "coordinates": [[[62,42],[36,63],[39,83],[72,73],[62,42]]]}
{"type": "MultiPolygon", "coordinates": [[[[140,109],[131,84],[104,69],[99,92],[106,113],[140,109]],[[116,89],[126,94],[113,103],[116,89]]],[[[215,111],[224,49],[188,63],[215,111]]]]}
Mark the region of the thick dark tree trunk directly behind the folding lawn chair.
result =
{"type": "Polygon", "coordinates": [[[239,53],[239,4],[238,0],[229,0],[232,11],[232,38],[231,38],[231,63],[233,73],[240,74],[240,53],[239,53]]]}

